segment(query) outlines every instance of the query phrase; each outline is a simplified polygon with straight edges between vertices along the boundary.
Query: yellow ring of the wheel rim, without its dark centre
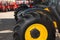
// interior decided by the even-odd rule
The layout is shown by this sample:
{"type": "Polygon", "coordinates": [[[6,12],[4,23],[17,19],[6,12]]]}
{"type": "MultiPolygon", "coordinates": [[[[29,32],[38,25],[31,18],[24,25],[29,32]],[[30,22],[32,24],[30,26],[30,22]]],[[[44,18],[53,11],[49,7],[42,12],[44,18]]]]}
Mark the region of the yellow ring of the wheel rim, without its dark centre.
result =
{"type": "Polygon", "coordinates": [[[29,26],[25,32],[25,40],[47,40],[48,38],[48,31],[42,24],[32,24],[29,26]],[[30,35],[30,31],[33,29],[37,29],[40,32],[40,36],[38,38],[32,38],[30,35]]]}

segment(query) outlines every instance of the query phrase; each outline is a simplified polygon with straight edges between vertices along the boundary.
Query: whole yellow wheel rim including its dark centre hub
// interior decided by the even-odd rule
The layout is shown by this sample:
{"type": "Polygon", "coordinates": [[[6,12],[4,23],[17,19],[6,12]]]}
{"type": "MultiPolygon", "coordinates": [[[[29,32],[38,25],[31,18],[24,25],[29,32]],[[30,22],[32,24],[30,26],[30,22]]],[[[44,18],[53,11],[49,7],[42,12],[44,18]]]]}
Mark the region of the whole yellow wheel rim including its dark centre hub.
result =
{"type": "Polygon", "coordinates": [[[25,32],[25,40],[47,40],[48,31],[42,24],[32,24],[25,32]]]}

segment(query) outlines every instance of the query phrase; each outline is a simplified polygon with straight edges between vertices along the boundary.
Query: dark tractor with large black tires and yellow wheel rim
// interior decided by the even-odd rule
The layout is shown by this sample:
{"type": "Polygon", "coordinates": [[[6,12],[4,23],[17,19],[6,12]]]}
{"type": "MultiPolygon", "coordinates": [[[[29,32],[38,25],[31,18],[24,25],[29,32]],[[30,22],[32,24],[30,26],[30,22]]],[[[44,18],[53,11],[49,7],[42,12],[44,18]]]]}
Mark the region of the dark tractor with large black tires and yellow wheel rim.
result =
{"type": "Polygon", "coordinates": [[[60,0],[32,0],[15,10],[14,40],[55,40],[60,32],[60,0]]]}

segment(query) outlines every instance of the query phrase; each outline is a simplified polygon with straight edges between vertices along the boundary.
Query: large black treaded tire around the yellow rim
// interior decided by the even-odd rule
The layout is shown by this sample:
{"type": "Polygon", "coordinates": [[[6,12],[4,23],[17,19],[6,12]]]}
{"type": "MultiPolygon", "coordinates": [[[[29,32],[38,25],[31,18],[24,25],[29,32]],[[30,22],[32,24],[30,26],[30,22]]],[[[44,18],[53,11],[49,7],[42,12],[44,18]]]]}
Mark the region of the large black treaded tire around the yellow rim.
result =
{"type": "MultiPolygon", "coordinates": [[[[52,21],[46,16],[36,12],[29,12],[21,16],[21,20],[14,28],[14,39],[15,40],[25,40],[25,32],[27,28],[35,23],[42,24],[46,27],[48,31],[47,40],[55,40],[55,28],[52,21]],[[16,36],[15,36],[16,35],[16,36]]],[[[38,27],[38,26],[37,26],[38,27]]]]}

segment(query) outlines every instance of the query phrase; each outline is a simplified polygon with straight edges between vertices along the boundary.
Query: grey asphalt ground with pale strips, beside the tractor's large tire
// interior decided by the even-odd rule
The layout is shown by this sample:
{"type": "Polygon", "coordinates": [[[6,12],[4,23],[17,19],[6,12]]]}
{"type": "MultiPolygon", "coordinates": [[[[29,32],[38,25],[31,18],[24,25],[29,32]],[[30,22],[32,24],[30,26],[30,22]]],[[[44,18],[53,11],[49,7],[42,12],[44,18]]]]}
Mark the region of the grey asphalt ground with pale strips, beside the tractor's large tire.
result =
{"type": "MultiPolygon", "coordinates": [[[[0,40],[13,40],[14,12],[0,13],[0,40]]],[[[59,37],[56,40],[60,40],[59,37]]]]}

